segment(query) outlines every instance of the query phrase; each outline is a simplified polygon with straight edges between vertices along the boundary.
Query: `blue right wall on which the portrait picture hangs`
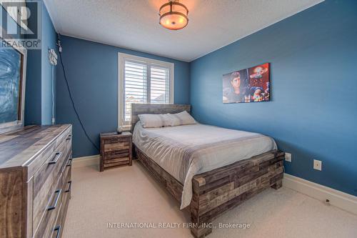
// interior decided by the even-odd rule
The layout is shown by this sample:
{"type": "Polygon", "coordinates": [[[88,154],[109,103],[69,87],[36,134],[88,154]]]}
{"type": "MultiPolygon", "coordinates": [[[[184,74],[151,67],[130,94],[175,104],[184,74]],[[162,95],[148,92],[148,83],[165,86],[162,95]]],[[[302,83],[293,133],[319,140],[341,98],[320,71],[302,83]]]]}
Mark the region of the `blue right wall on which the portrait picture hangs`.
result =
{"type": "Polygon", "coordinates": [[[324,1],[191,62],[193,116],[267,134],[286,172],[357,195],[357,1],[324,1]],[[222,103],[222,75],[271,62],[272,101],[222,103]],[[313,170],[313,159],[323,162],[313,170]]]}

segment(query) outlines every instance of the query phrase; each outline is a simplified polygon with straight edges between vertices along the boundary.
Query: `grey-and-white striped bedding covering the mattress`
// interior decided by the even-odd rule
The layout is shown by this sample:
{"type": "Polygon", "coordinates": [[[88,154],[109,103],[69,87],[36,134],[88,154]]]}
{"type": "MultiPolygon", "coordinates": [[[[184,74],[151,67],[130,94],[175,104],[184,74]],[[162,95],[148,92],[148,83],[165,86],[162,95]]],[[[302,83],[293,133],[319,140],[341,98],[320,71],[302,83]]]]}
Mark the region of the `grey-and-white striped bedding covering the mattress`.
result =
{"type": "Polygon", "coordinates": [[[144,128],[136,123],[133,142],[183,184],[181,209],[191,203],[192,178],[276,149],[271,137],[205,124],[144,128]]]}

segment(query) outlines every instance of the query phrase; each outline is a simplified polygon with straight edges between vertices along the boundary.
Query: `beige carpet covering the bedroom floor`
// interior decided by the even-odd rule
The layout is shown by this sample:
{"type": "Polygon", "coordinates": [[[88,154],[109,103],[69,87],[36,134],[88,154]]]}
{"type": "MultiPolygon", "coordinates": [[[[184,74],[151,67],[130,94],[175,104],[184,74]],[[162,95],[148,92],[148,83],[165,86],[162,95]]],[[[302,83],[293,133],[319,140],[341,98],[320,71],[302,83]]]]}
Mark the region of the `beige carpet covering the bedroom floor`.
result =
{"type": "MultiPolygon", "coordinates": [[[[189,229],[182,228],[189,222],[189,214],[178,209],[174,199],[138,162],[105,172],[95,167],[76,168],[72,180],[62,237],[191,237],[189,229]],[[156,228],[108,228],[109,222],[156,228]],[[181,228],[159,229],[166,223],[179,223],[181,228]]],[[[284,187],[267,189],[223,214],[214,225],[219,223],[251,227],[213,229],[208,237],[357,237],[356,215],[284,187]]]]}

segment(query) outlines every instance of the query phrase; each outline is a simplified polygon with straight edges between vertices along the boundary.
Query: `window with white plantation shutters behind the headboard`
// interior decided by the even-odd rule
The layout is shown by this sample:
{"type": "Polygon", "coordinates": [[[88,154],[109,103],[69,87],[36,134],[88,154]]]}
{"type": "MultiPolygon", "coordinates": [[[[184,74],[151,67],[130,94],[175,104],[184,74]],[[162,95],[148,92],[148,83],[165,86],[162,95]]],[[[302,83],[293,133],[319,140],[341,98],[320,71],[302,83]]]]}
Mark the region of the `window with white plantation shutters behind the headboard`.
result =
{"type": "Polygon", "coordinates": [[[118,75],[119,127],[130,128],[132,103],[174,103],[174,64],[119,53],[118,75]]]}

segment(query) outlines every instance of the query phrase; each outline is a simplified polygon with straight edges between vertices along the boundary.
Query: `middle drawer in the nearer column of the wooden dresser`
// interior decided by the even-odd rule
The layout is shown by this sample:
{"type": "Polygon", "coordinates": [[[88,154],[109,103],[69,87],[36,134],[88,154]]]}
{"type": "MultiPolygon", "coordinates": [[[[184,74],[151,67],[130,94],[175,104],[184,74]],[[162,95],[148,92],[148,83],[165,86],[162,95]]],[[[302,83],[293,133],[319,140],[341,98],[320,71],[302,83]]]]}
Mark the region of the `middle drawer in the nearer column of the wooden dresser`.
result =
{"type": "Polygon", "coordinates": [[[54,191],[51,192],[51,194],[52,196],[50,202],[49,204],[46,204],[44,209],[44,217],[41,219],[39,227],[36,229],[34,234],[35,238],[51,237],[64,196],[62,177],[59,177],[59,180],[56,182],[56,186],[54,187],[54,191]]]}

